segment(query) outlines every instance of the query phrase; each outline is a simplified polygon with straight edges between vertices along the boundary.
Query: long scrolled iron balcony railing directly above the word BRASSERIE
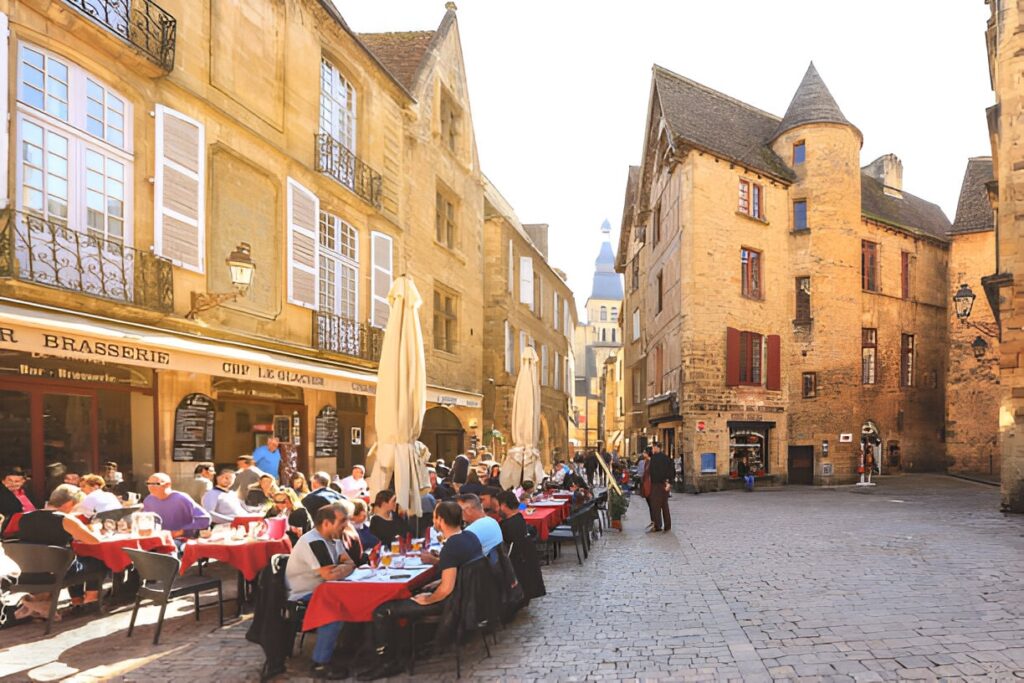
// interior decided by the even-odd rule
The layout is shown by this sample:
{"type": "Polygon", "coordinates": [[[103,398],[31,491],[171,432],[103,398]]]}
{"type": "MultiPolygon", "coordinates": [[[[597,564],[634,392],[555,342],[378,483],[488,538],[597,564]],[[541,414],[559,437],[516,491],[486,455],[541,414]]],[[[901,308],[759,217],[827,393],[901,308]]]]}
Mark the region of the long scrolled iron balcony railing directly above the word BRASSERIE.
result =
{"type": "Polygon", "coordinates": [[[0,225],[0,276],[169,313],[174,267],[150,252],[25,212],[0,225]]]}

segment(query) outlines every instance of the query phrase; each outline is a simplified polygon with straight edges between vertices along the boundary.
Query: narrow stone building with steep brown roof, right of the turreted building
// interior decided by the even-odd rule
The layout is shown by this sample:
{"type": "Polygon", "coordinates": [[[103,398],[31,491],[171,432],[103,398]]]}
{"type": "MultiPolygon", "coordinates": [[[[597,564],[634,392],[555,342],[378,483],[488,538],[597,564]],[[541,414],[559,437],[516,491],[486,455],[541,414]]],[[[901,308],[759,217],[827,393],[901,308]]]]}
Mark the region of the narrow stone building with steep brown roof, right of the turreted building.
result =
{"type": "MultiPolygon", "coordinates": [[[[995,268],[995,226],[986,186],[991,180],[990,157],[968,161],[956,217],[949,230],[949,300],[963,285],[983,292],[982,278],[995,268]]],[[[967,323],[956,318],[953,306],[947,317],[947,469],[998,477],[999,342],[995,321],[984,304],[974,307],[967,323]]]]}

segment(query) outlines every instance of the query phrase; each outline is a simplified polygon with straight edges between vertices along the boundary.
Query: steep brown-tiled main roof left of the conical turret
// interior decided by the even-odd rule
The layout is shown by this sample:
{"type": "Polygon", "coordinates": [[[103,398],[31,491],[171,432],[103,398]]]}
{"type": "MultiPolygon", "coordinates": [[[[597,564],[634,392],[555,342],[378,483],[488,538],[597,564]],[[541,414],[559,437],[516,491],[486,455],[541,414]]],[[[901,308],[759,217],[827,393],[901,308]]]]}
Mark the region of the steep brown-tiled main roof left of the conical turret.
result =
{"type": "Polygon", "coordinates": [[[654,66],[654,86],[674,137],[753,170],[793,181],[793,170],[768,143],[779,119],[654,66]]]}

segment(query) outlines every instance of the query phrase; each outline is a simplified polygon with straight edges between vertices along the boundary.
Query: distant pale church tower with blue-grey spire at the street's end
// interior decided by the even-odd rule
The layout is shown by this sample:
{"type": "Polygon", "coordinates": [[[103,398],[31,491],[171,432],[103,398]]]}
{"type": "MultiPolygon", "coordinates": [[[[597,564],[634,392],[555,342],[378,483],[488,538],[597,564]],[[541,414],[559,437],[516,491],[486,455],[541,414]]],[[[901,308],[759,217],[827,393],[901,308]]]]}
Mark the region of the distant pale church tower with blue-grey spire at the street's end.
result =
{"type": "Polygon", "coordinates": [[[623,305],[623,283],[615,272],[610,233],[611,224],[605,220],[601,224],[604,241],[594,261],[594,281],[587,298],[587,321],[577,325],[573,339],[577,419],[571,439],[575,447],[606,445],[601,379],[604,361],[622,347],[618,314],[623,305]]]}

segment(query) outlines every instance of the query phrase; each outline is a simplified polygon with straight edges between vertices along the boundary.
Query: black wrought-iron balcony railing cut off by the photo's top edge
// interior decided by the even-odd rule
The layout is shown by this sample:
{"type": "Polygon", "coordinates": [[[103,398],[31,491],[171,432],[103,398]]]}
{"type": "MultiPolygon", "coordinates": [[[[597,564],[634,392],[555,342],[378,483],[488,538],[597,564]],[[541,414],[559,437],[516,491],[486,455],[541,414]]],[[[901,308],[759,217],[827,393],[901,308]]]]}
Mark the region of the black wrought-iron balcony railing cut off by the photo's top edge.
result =
{"type": "Polygon", "coordinates": [[[177,22],[153,0],[63,0],[163,69],[174,69],[177,22]]]}

